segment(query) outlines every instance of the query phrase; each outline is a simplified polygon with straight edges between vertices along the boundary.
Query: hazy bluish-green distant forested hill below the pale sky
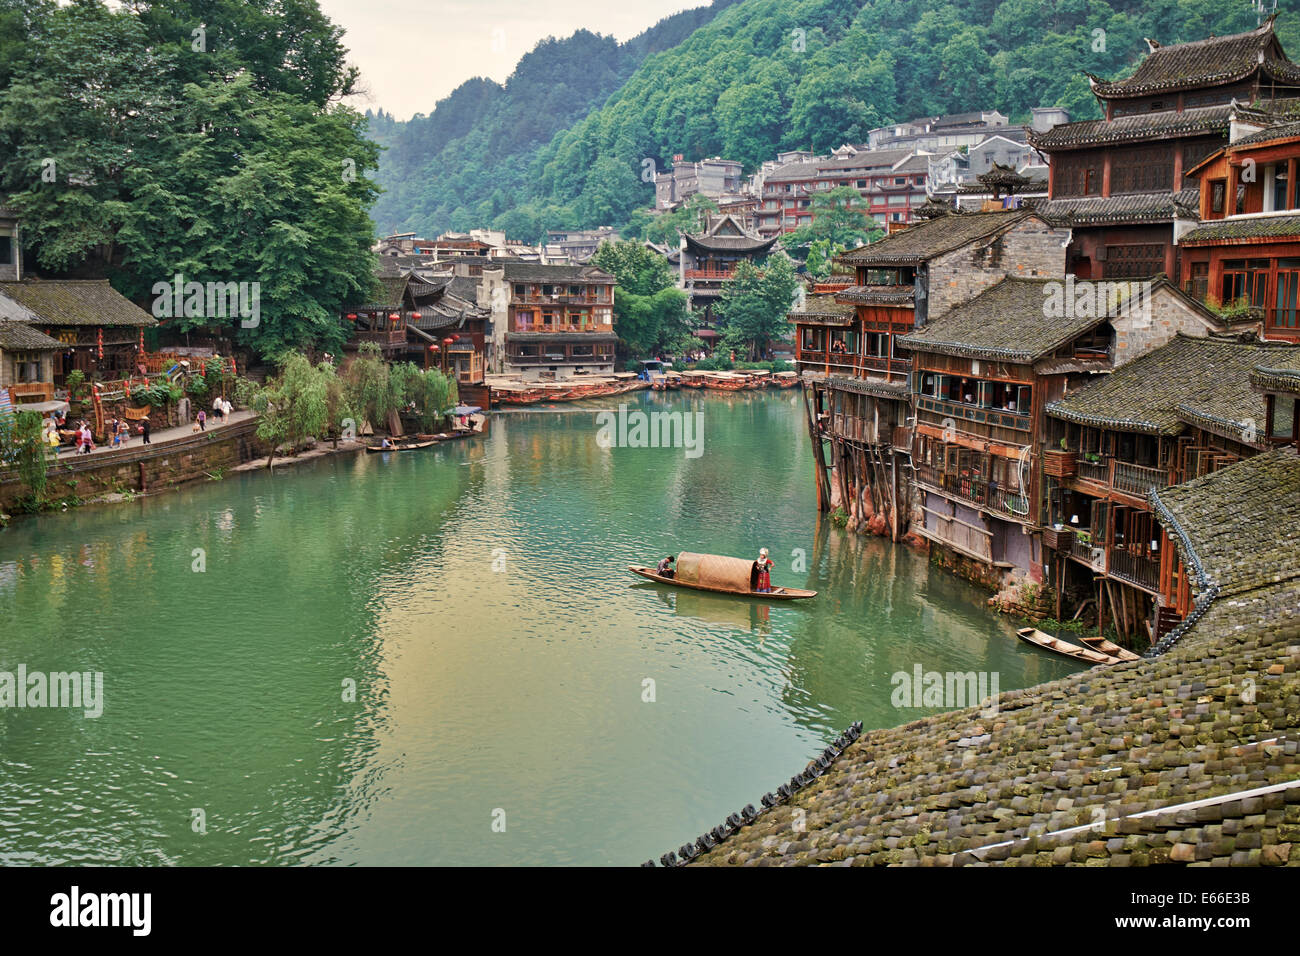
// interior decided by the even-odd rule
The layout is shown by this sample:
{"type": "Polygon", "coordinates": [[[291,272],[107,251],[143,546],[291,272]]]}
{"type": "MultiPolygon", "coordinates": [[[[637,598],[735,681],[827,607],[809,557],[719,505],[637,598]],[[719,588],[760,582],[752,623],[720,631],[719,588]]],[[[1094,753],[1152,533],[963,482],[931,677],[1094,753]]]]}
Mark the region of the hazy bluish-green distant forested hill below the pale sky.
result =
{"type": "MultiPolygon", "coordinates": [[[[380,161],[386,190],[372,215],[380,230],[486,226],[523,202],[533,155],[604,103],[655,52],[676,47],[738,0],[666,17],[627,43],[578,30],[546,39],[520,59],[504,85],[476,77],[402,124],[368,113],[372,137],[390,147],[380,161]]],[[[510,222],[511,235],[534,239],[510,222]]]]}

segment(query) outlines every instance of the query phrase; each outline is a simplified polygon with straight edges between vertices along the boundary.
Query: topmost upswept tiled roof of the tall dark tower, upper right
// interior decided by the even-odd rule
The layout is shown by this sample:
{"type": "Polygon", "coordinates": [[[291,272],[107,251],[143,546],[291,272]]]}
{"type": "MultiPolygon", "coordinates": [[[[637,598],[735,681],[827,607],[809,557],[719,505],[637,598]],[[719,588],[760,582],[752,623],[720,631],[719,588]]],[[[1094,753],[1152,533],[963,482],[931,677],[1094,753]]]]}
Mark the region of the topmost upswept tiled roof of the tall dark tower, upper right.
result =
{"type": "Polygon", "coordinates": [[[1257,69],[1284,83],[1297,82],[1295,66],[1270,56],[1275,44],[1273,21],[1269,20],[1243,34],[1157,47],[1127,79],[1092,77],[1092,88],[1104,99],[1126,99],[1231,83],[1257,69]]]}

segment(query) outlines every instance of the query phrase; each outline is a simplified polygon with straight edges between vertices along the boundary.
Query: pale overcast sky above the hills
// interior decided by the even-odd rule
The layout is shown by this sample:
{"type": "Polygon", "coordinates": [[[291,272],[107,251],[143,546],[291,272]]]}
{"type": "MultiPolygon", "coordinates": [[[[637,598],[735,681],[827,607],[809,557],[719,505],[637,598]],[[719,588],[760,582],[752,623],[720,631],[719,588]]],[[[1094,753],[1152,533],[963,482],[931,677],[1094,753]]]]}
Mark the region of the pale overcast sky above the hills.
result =
{"type": "Polygon", "coordinates": [[[663,17],[708,0],[318,0],[342,26],[368,96],[358,109],[399,120],[432,113],[471,77],[503,81],[546,36],[586,29],[628,40],[663,17]]]}

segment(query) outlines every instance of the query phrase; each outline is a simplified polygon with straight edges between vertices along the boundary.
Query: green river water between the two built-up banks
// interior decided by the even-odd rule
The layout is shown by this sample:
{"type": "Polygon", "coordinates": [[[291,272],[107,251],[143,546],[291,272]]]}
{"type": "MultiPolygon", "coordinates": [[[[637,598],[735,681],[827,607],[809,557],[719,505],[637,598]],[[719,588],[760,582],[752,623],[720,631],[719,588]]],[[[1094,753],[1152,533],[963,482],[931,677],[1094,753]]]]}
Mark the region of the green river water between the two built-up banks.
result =
{"type": "Polygon", "coordinates": [[[898,671],[1075,670],[924,557],[819,523],[797,393],[628,403],[702,412],[703,454],[602,447],[616,402],[555,406],[17,520],[0,671],[100,671],[104,704],[0,709],[0,864],[638,864],[853,721],[933,713],[892,704],[898,671]],[[625,570],[759,546],[820,596],[625,570]]]}

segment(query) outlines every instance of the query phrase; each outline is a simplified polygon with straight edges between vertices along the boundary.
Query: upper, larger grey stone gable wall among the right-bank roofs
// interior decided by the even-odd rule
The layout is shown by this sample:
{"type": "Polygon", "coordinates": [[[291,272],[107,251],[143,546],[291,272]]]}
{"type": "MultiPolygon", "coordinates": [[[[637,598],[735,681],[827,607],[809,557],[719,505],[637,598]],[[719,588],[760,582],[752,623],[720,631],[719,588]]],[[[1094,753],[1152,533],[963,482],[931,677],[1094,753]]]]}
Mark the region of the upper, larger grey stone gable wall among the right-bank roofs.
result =
{"type": "Polygon", "coordinates": [[[992,242],[970,243],[930,263],[930,321],[968,302],[1008,276],[1060,278],[1065,274],[1069,229],[1024,219],[992,242]]]}

